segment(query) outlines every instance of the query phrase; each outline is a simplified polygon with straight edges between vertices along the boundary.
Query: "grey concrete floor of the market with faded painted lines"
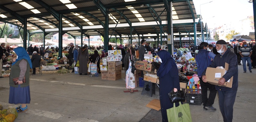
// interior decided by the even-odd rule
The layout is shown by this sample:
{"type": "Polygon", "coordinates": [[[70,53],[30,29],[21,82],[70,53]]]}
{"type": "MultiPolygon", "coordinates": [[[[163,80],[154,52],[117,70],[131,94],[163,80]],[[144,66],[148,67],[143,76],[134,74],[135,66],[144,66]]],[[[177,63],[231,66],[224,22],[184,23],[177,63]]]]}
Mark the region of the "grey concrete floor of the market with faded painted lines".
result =
{"type": "MultiPolygon", "coordinates": [[[[255,121],[256,69],[243,73],[239,68],[239,87],[234,105],[233,122],[255,121]]],[[[18,105],[9,104],[9,77],[0,79],[0,104],[7,108],[18,105]]],[[[150,111],[145,107],[156,95],[148,97],[139,92],[124,93],[125,73],[117,81],[101,80],[99,77],[68,73],[64,75],[43,73],[31,75],[31,103],[28,111],[19,113],[15,122],[138,122],[150,111]]],[[[193,122],[223,122],[218,96],[213,104],[217,111],[203,110],[203,105],[190,105],[193,122]]]]}

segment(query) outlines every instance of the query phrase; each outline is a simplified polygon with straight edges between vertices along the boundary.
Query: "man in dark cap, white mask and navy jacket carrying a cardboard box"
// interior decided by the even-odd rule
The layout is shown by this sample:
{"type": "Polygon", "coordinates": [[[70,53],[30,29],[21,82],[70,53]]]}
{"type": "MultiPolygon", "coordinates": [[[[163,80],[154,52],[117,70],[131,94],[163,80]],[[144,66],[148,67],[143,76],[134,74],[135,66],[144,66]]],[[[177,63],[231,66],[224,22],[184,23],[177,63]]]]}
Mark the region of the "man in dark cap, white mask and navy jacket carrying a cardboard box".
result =
{"type": "MultiPolygon", "coordinates": [[[[232,76],[233,83],[232,87],[215,86],[218,90],[220,111],[224,122],[232,122],[233,119],[233,106],[236,99],[236,92],[238,87],[238,67],[237,67],[237,56],[228,50],[227,43],[224,40],[216,42],[216,49],[218,53],[214,58],[214,61],[209,66],[211,68],[225,67],[225,63],[228,63],[228,71],[219,80],[219,85],[224,85],[232,76]]],[[[207,76],[205,76],[206,70],[202,73],[202,80],[207,83],[207,76]]]]}

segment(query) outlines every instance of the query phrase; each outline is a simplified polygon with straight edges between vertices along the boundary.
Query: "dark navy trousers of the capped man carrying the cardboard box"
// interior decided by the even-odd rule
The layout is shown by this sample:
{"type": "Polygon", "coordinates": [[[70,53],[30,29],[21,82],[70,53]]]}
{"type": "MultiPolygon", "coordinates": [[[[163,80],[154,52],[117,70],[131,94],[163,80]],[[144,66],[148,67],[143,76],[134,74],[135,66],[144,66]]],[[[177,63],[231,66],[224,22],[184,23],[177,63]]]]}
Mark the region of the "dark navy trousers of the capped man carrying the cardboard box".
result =
{"type": "Polygon", "coordinates": [[[232,122],[233,106],[236,100],[236,90],[223,91],[218,90],[220,112],[224,122],[232,122]]]}

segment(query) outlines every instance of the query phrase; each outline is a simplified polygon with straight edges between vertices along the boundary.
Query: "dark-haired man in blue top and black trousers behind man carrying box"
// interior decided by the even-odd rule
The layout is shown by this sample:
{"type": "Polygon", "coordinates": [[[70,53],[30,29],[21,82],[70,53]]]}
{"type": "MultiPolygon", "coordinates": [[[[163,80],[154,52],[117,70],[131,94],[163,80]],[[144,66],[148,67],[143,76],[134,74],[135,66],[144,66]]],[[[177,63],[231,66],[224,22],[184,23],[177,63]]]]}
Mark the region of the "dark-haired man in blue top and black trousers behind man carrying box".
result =
{"type": "Polygon", "coordinates": [[[213,107],[213,103],[217,94],[217,90],[215,90],[215,86],[210,83],[204,83],[202,80],[202,73],[204,70],[212,63],[214,60],[215,54],[209,51],[209,45],[207,42],[202,42],[200,44],[200,50],[196,54],[196,64],[197,64],[197,75],[199,77],[199,81],[202,88],[202,99],[203,99],[203,109],[204,110],[214,110],[216,108],[213,107]],[[207,97],[208,89],[210,90],[209,97],[207,97]]]}

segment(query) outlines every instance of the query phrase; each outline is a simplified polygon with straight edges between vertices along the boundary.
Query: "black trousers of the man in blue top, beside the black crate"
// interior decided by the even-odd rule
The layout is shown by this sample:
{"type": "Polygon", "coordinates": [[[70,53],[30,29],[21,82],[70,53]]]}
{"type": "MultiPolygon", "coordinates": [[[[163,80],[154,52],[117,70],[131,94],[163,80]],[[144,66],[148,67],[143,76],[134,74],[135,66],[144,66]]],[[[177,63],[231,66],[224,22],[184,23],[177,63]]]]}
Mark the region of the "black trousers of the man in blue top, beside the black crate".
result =
{"type": "Polygon", "coordinates": [[[202,78],[199,78],[201,89],[202,89],[202,99],[203,99],[203,105],[204,106],[211,106],[214,103],[217,90],[215,89],[215,86],[210,83],[204,83],[202,78]],[[207,97],[207,91],[210,90],[209,97],[207,97]]]}

